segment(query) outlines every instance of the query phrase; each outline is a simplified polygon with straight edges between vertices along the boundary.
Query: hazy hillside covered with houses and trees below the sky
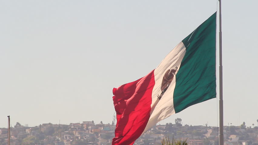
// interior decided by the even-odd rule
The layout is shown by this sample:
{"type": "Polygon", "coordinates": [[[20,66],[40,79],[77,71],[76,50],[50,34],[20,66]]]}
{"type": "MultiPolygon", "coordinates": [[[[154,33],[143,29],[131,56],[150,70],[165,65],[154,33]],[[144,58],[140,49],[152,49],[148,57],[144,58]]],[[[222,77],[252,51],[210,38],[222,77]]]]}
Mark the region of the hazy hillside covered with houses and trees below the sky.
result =
{"type": "MultiPolygon", "coordinates": [[[[177,118],[175,124],[153,126],[139,137],[134,145],[161,145],[161,140],[187,140],[188,145],[218,145],[218,127],[192,126],[177,118]]],[[[258,120],[257,120],[258,123],[258,120]]],[[[10,129],[12,145],[111,145],[115,124],[96,124],[94,121],[65,124],[40,124],[35,127],[19,122],[10,129]]],[[[224,126],[224,145],[258,145],[258,127],[224,126]]],[[[0,128],[0,145],[6,145],[8,129],[0,128]]]]}

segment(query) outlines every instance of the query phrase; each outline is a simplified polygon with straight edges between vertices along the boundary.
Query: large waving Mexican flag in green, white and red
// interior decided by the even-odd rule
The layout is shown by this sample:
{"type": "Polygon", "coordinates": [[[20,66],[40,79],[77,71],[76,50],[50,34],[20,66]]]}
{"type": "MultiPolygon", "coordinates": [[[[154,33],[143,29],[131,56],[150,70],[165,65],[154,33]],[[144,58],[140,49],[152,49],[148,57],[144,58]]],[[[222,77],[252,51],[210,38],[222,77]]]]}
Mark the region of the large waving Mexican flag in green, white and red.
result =
{"type": "Polygon", "coordinates": [[[149,74],[113,89],[117,113],[112,145],[132,145],[157,122],[216,98],[216,12],[149,74]]]}

